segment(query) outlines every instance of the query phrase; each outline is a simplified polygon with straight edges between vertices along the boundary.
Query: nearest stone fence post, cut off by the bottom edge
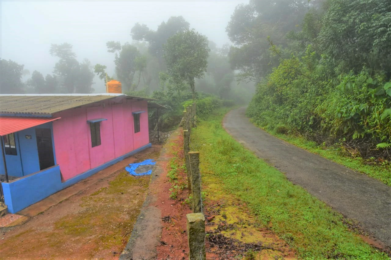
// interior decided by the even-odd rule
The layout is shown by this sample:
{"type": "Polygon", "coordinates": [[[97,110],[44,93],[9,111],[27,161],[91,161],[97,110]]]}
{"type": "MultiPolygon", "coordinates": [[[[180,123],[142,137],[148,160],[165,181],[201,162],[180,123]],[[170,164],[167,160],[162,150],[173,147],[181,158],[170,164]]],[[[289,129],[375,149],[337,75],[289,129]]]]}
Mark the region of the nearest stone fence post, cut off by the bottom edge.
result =
{"type": "Polygon", "coordinates": [[[205,217],[202,213],[186,215],[189,260],[206,260],[205,253],[205,217]]]}

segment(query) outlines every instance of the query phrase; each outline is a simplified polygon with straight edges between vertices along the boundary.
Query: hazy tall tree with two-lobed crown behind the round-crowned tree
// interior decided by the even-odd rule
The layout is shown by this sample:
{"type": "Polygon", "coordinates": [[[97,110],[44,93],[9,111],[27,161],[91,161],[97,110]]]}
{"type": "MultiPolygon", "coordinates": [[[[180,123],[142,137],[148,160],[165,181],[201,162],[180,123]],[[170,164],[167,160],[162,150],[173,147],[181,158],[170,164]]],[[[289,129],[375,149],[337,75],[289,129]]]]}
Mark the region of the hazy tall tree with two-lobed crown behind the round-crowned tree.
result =
{"type": "Polygon", "coordinates": [[[131,29],[131,36],[133,40],[148,42],[150,53],[163,65],[163,45],[172,35],[187,30],[189,26],[182,16],[172,16],[167,22],[163,21],[156,31],[149,29],[145,24],[136,23],[131,29]]]}

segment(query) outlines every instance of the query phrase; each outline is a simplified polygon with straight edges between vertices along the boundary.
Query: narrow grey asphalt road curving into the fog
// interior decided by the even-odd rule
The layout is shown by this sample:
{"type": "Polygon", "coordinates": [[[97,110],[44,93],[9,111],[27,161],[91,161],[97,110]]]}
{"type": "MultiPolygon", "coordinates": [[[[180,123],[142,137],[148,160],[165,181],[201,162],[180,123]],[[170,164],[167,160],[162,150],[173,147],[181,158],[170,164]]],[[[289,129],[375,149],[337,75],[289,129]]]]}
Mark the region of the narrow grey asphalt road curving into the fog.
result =
{"type": "Polygon", "coordinates": [[[223,126],[233,138],[391,247],[391,187],[271,136],[245,112],[239,108],[224,117],[223,126]]]}

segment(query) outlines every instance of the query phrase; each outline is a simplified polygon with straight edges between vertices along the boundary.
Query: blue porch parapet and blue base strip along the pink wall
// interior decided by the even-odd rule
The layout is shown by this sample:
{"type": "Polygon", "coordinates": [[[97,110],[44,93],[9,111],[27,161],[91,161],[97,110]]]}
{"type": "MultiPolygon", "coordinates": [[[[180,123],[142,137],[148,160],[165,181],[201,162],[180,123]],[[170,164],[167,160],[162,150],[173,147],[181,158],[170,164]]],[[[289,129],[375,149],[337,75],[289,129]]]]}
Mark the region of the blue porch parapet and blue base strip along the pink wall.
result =
{"type": "Polygon", "coordinates": [[[55,165],[40,172],[36,172],[11,182],[2,182],[4,202],[8,212],[16,213],[30,205],[43,200],[44,198],[69,187],[80,180],[90,177],[94,173],[107,168],[126,157],[132,156],[144,149],[151,147],[151,143],[133,150],[123,156],[115,158],[96,168],[83,172],[66,182],[61,182],[60,166],[55,165]]]}

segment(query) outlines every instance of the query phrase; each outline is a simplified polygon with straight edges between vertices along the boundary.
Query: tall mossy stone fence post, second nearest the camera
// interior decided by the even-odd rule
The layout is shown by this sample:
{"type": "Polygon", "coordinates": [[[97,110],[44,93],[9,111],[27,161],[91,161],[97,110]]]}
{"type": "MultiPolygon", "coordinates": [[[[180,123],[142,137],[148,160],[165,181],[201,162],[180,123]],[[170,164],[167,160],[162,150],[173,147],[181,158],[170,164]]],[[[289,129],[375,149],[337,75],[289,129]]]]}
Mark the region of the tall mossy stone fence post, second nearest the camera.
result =
{"type": "Polygon", "coordinates": [[[199,173],[199,152],[188,152],[190,179],[192,182],[193,213],[202,212],[201,175],[199,173]]]}

